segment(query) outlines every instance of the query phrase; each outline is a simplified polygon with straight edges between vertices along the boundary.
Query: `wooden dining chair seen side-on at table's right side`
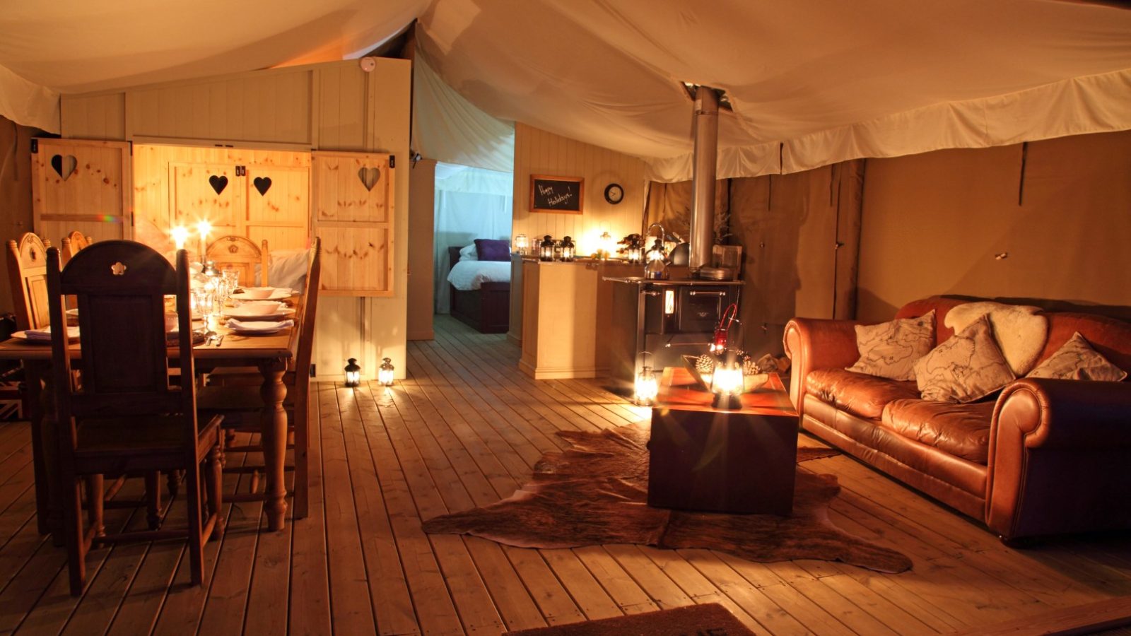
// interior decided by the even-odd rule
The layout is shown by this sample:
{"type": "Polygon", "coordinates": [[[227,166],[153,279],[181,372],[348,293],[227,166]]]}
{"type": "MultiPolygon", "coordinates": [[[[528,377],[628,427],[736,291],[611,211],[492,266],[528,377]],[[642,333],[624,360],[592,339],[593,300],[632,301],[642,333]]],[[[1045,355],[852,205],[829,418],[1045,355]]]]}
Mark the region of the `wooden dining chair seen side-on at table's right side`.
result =
{"type": "MultiPolygon", "coordinates": [[[[299,316],[299,346],[288,366],[283,381],[287,387],[283,407],[287,412],[291,432],[294,436],[294,517],[303,518],[309,509],[310,464],[310,366],[313,362],[314,323],[318,313],[318,285],[321,277],[321,240],[316,238],[307,264],[307,283],[302,295],[302,312],[299,316]]],[[[259,386],[262,376],[256,369],[243,369],[240,378],[222,386],[200,387],[197,405],[201,414],[222,414],[232,428],[257,431],[258,413],[264,407],[259,386]]],[[[227,426],[227,424],[225,424],[227,426]]],[[[233,450],[261,450],[249,446],[233,450]]],[[[247,471],[247,466],[242,470],[247,471]]],[[[228,499],[252,499],[254,496],[228,496],[228,499]]]]}

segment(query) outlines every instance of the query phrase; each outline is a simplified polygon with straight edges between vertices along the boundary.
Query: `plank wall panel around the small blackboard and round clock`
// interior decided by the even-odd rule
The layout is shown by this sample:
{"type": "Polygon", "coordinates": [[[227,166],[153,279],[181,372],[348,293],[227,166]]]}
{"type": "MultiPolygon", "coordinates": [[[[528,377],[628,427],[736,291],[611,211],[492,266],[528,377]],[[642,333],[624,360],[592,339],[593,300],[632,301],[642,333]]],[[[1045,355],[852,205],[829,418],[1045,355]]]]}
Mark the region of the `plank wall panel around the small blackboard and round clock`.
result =
{"type": "Polygon", "coordinates": [[[578,253],[597,248],[597,237],[607,231],[616,240],[641,230],[645,164],[637,157],[582,144],[523,123],[515,124],[515,216],[511,234],[532,241],[550,234],[572,237],[578,253]],[[581,177],[585,204],[581,214],[530,212],[530,175],[581,177]],[[605,201],[605,186],[620,183],[624,199],[605,201]]]}

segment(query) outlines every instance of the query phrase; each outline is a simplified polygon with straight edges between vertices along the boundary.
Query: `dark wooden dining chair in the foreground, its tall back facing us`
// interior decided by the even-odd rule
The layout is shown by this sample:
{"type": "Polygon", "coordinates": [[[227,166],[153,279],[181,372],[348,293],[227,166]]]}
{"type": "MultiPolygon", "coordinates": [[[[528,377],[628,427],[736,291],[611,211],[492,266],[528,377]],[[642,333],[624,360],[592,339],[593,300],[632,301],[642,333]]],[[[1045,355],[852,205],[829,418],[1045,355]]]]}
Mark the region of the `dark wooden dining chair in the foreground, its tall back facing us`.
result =
{"type": "MultiPolygon", "coordinates": [[[[221,464],[223,416],[197,420],[195,383],[171,386],[169,370],[193,377],[189,264],[176,269],[133,241],[103,241],[81,250],[60,272],[59,250],[48,250],[52,323],[63,320],[63,296],[78,300],[81,387],[74,385],[66,329],[52,329],[51,354],[59,427],[59,483],[71,594],[86,583],[86,553],[101,543],[183,536],[193,584],[204,581],[204,543],[223,534],[221,464]],[[165,335],[165,295],[176,299],[178,340],[165,335]],[[175,349],[171,345],[176,345],[175,349]],[[201,467],[204,466],[204,467],[201,467]],[[107,534],[103,526],[104,475],[183,471],[188,527],[107,534]],[[83,519],[79,480],[87,482],[83,519]],[[207,514],[201,508],[207,484],[207,514]]],[[[155,480],[154,480],[155,481],[155,480]]]]}

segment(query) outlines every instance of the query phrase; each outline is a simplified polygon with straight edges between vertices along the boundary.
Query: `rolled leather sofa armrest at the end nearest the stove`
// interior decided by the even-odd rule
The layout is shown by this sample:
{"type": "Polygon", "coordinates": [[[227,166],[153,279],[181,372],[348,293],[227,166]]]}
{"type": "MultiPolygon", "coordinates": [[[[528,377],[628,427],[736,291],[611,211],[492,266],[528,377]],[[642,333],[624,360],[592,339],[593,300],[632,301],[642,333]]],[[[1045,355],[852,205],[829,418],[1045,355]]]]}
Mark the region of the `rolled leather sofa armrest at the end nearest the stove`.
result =
{"type": "Polygon", "coordinates": [[[851,367],[860,360],[856,349],[856,320],[794,318],[786,323],[782,337],[789,356],[789,399],[803,415],[805,376],[815,369],[851,367]]]}

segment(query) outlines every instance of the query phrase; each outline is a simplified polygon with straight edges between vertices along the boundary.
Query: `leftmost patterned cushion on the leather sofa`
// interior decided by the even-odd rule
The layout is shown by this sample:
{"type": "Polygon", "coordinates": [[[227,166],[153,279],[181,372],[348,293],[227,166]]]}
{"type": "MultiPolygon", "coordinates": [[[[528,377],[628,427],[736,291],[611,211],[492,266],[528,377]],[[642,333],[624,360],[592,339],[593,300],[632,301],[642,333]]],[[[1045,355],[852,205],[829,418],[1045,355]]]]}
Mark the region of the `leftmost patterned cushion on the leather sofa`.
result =
{"type": "Polygon", "coordinates": [[[934,344],[934,310],[918,318],[856,325],[860,360],[849,371],[892,380],[914,380],[915,362],[934,344]]]}

